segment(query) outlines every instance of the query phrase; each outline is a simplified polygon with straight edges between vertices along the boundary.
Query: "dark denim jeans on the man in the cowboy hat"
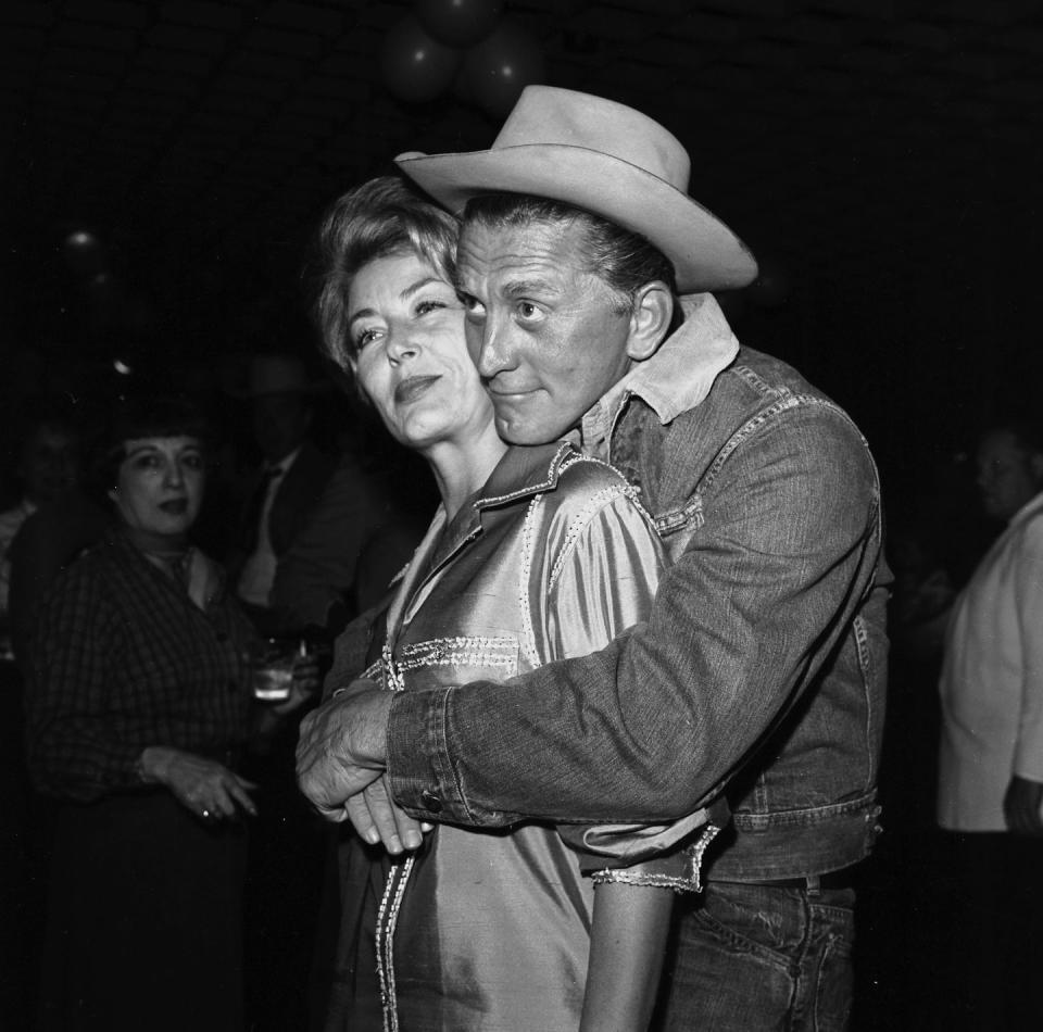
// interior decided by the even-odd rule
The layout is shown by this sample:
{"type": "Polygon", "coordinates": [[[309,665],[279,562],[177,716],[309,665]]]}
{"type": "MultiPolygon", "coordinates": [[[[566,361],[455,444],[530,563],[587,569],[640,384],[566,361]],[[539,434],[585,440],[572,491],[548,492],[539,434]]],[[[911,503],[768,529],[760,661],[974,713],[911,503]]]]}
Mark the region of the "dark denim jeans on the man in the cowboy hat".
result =
{"type": "Polygon", "coordinates": [[[713,882],[680,905],[664,1032],[847,1028],[855,894],[713,882]]]}

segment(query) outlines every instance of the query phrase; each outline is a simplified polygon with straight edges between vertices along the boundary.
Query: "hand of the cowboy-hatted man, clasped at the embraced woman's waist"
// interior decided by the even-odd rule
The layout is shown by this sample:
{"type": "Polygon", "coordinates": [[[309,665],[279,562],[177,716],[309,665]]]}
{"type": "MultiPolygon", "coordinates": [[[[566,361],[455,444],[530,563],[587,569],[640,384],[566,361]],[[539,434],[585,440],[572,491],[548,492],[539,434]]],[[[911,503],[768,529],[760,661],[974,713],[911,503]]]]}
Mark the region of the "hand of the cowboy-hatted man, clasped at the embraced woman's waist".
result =
{"type": "Polygon", "coordinates": [[[384,771],[392,695],[356,681],[352,691],[313,709],[301,721],[297,782],[327,820],[348,817],[344,804],[384,771]]]}

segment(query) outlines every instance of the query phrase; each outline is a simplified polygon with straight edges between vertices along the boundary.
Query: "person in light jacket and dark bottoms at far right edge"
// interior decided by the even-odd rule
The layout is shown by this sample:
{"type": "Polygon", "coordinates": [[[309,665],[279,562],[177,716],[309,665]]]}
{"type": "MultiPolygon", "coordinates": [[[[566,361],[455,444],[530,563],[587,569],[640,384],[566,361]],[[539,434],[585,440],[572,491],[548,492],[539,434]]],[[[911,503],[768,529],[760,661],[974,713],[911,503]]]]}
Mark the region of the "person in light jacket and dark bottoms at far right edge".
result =
{"type": "Polygon", "coordinates": [[[956,600],[941,677],[938,819],[957,878],[950,1027],[1034,1028],[1043,920],[1043,430],[1010,420],[978,448],[1006,528],[956,600]]]}

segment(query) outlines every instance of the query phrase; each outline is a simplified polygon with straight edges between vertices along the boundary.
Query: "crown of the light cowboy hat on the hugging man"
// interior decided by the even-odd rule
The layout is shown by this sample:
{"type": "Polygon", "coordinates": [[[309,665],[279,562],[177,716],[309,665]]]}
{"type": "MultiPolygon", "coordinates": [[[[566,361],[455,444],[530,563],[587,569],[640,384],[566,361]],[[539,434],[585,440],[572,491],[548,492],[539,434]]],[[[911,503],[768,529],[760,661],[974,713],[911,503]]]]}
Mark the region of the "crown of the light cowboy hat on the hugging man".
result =
{"type": "Polygon", "coordinates": [[[492,150],[546,144],[606,154],[688,192],[691,162],[680,140],[625,104],[552,86],[527,86],[492,150]]]}

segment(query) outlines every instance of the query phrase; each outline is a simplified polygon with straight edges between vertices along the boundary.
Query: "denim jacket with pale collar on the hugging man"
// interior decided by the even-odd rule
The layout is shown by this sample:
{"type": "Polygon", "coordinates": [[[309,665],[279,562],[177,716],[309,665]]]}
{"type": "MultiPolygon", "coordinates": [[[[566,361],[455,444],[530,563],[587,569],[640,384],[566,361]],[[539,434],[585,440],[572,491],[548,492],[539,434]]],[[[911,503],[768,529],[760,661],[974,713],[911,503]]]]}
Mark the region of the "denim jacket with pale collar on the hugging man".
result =
{"type": "Polygon", "coordinates": [[[889,574],[850,417],[740,348],[709,295],[583,420],[674,563],[646,622],[503,684],[395,699],[388,771],[418,817],[663,820],[724,793],[708,877],[822,873],[878,830],[889,574]]]}

